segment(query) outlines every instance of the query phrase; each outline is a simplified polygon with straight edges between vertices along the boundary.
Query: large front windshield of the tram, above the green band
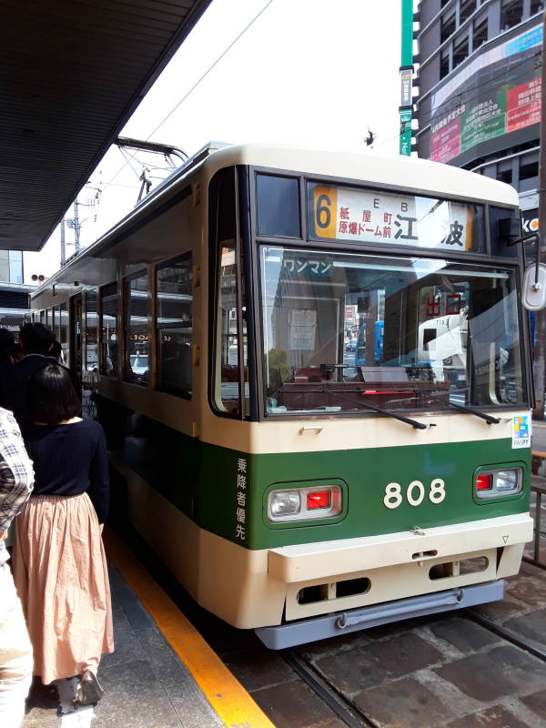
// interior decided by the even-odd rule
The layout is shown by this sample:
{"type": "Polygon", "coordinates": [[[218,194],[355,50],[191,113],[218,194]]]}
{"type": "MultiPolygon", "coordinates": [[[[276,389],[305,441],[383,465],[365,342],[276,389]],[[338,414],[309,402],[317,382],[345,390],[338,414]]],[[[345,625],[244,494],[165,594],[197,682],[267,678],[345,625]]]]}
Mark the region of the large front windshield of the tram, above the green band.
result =
{"type": "Polygon", "coordinates": [[[262,246],[269,415],[525,400],[513,270],[262,246]]]}

